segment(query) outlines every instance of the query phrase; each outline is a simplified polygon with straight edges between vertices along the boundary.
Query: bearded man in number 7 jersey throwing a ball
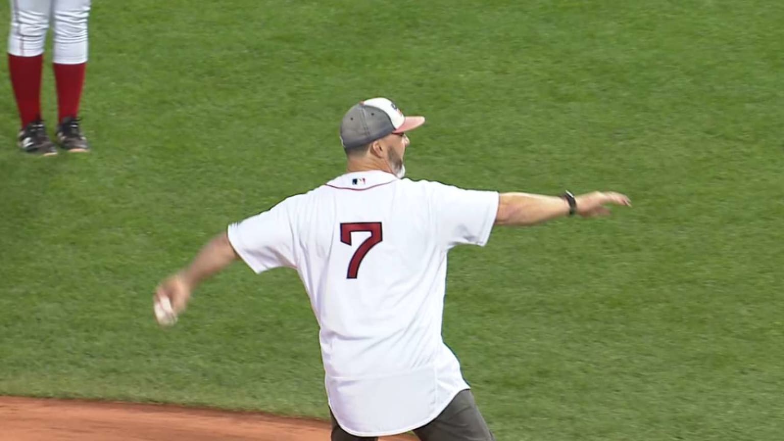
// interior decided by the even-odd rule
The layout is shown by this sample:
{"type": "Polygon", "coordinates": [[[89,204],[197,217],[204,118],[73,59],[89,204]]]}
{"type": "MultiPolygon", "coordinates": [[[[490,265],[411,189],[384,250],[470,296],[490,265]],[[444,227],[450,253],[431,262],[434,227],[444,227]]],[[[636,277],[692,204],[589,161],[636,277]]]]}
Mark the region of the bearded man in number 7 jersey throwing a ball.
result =
{"type": "Polygon", "coordinates": [[[355,104],[340,125],[347,173],[229,225],[155,293],[176,315],[201,280],[238,258],[256,273],[296,269],[320,326],[333,441],[408,431],[424,441],[494,439],[441,338],[448,251],[484,246],[494,226],[630,206],[615,192],[545,196],[405,179],[407,133],[424,122],[386,98],[355,104]]]}

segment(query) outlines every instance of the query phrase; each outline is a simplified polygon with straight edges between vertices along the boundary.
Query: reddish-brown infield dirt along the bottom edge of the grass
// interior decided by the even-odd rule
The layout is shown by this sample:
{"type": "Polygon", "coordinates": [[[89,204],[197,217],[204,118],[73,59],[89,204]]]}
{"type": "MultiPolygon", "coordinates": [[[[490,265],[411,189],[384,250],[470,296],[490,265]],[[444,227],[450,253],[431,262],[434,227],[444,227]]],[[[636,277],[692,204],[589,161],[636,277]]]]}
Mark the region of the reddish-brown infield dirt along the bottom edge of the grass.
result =
{"type": "MultiPolygon", "coordinates": [[[[323,421],[129,403],[0,397],[2,441],[328,441],[323,421]]],[[[386,441],[411,441],[407,436],[386,441]]]]}

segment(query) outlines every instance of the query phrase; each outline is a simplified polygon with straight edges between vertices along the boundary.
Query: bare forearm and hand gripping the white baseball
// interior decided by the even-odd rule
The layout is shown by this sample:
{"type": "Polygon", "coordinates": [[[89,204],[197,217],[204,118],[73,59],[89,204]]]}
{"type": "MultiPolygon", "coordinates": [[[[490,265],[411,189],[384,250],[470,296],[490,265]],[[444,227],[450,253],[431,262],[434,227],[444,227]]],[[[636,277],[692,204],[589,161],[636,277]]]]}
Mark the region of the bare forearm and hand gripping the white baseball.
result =
{"type": "Polygon", "coordinates": [[[202,280],[217,274],[237,258],[227,233],[217,235],[201,249],[190,265],[158,285],[155,301],[168,298],[175,314],[182,312],[191,298],[191,291],[202,280]]]}

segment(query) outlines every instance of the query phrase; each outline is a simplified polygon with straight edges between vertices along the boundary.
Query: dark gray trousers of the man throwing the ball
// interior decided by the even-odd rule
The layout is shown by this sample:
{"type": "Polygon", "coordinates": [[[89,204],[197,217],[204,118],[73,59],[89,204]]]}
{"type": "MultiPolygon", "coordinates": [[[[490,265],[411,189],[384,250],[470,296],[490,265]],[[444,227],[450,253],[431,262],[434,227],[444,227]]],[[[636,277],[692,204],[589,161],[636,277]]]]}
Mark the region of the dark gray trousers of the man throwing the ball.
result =
{"type": "MultiPolygon", "coordinates": [[[[414,429],[422,441],[495,441],[485,418],[479,413],[474,394],[459,392],[433,421],[414,429]]],[[[332,441],[376,441],[378,438],[354,436],[340,428],[332,417],[332,441]]]]}

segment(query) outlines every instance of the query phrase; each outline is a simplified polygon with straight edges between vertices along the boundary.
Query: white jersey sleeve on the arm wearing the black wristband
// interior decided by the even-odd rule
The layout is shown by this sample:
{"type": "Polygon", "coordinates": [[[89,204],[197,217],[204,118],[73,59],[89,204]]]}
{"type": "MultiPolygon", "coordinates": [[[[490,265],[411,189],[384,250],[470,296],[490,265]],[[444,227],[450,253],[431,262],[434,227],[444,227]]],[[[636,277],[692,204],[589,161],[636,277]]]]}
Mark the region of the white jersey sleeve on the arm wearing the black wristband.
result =
{"type": "Polygon", "coordinates": [[[498,213],[498,191],[466,190],[434,184],[431,197],[441,245],[485,246],[498,213]]]}

